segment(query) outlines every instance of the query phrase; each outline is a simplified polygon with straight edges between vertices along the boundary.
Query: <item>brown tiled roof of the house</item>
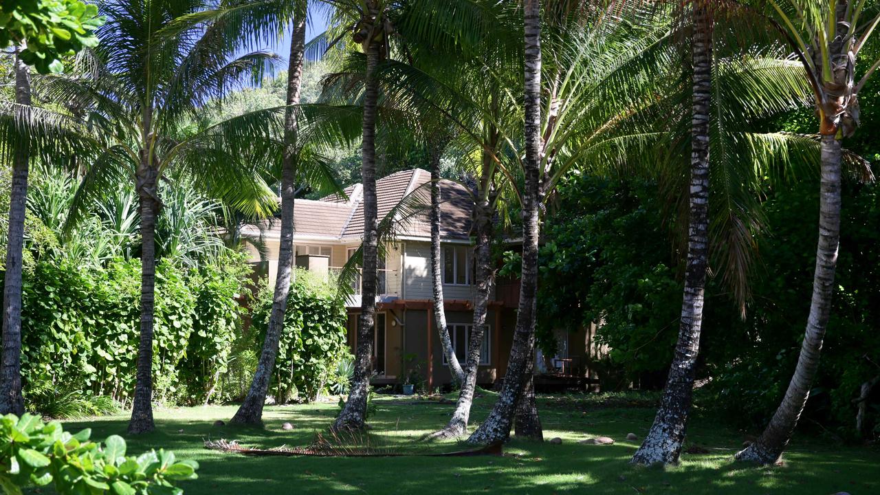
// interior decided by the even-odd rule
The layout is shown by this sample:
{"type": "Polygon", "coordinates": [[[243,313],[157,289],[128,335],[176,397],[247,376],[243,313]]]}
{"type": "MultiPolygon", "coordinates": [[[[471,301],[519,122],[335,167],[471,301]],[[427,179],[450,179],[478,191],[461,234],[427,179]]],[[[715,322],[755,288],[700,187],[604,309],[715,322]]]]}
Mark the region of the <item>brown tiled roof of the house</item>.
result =
{"type": "MultiPolygon", "coordinates": [[[[376,181],[378,221],[381,222],[395,205],[407,197],[411,207],[430,203],[431,175],[414,168],[397,172],[376,181]],[[408,195],[408,196],[407,196],[408,195]]],[[[472,200],[467,189],[454,181],[441,181],[440,234],[449,239],[466,239],[471,229],[472,200]]],[[[294,222],[297,235],[355,240],[363,237],[363,194],[361,184],[345,189],[348,201],[339,195],[320,200],[297,199],[294,222]]],[[[404,209],[401,209],[401,211],[404,209]]],[[[400,212],[399,212],[400,214],[400,212]]],[[[400,220],[400,217],[398,218],[400,220]]],[[[414,237],[430,237],[428,211],[416,213],[399,222],[398,233],[414,237]]],[[[279,234],[281,222],[267,221],[268,235],[279,234]]]]}

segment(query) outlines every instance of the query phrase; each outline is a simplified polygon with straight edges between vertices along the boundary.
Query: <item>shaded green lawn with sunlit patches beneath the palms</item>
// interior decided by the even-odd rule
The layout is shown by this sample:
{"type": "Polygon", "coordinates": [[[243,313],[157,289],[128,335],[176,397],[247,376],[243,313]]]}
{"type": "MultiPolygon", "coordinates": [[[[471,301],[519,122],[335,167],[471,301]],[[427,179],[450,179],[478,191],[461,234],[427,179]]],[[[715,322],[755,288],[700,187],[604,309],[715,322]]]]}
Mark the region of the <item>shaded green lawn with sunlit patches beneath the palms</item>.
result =
{"type": "MultiPolygon", "coordinates": [[[[478,400],[473,420],[488,413],[494,397],[478,400]]],[[[170,448],[201,464],[199,479],[181,486],[187,495],[249,495],[270,493],[711,493],[853,495],[880,492],[880,452],[869,448],[827,445],[820,439],[798,437],[786,454],[785,465],[757,469],[730,462],[743,442],[740,433],[707,418],[694,419],[689,444],[709,454],[684,454],[672,469],[636,469],[627,464],[638,447],[628,432],[647,432],[654,410],[627,404],[603,403],[591,396],[546,396],[540,399],[545,438],[561,437],[554,445],[512,440],[503,457],[247,457],[202,447],[203,440],[225,438],[260,447],[305,446],[315,431],[326,428],[337,408],[305,404],[267,408],[266,428],[239,429],[213,426],[228,419],[235,407],[157,410],[158,432],[128,438],[129,452],[150,447],[170,448]],[[284,432],[282,422],[295,425],[284,432]],[[576,443],[604,435],[613,446],[576,443]]],[[[371,434],[401,449],[450,450],[454,444],[426,445],[419,438],[444,425],[451,404],[404,403],[400,397],[377,399],[371,434]]],[[[127,417],[105,417],[70,422],[77,430],[92,428],[92,438],[124,434],[127,417]]]]}

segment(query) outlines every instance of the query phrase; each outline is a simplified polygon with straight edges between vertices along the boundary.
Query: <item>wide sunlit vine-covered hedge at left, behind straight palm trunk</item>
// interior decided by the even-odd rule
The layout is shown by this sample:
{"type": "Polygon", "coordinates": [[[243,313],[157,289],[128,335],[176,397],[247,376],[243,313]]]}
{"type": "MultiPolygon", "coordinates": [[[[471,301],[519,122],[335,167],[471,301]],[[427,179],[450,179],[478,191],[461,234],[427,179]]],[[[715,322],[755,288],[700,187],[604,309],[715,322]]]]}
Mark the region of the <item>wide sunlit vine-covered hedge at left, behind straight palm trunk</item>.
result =
{"type": "MultiPolygon", "coordinates": [[[[236,297],[246,291],[248,270],[242,255],[231,253],[201,270],[158,262],[155,400],[206,400],[241,328],[246,309],[236,297]]],[[[22,311],[26,396],[54,389],[128,402],[140,339],[140,277],[137,259],[87,269],[55,261],[29,267],[22,311]]]]}

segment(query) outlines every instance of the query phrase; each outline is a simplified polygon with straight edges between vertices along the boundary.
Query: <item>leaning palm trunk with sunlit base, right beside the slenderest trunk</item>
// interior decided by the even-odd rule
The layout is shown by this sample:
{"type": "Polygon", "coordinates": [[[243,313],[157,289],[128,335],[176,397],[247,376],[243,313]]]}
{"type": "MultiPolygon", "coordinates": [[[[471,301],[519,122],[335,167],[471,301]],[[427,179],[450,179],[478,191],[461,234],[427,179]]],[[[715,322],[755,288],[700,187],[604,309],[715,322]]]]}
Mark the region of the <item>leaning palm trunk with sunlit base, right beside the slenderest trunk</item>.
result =
{"type": "MultiPolygon", "coordinates": [[[[485,183],[485,182],[484,182],[485,183]]],[[[477,245],[474,249],[476,261],[477,291],[473,302],[473,327],[470,341],[467,343],[467,362],[465,380],[461,381],[458,391],[458,403],[449,424],[443,430],[431,435],[437,439],[458,438],[467,432],[467,422],[471,417],[473,392],[477,386],[477,369],[480,364],[480,350],[483,336],[486,333],[486,314],[495,270],[492,270],[492,206],[488,194],[482,195],[480,203],[474,208],[474,230],[477,234],[477,245]]]]}

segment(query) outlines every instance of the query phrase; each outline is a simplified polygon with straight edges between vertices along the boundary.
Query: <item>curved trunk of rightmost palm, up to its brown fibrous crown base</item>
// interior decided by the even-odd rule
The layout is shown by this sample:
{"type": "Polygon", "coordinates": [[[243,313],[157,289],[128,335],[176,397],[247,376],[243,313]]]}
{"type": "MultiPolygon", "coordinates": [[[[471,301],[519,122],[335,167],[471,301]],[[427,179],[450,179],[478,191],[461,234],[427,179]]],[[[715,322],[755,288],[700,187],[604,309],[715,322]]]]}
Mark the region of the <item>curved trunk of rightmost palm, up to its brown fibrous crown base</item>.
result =
{"type": "Polygon", "coordinates": [[[810,396],[810,387],[819,365],[822,341],[831,314],[834,291],[834,271],[837,268],[837,254],[840,245],[840,167],[842,151],[840,139],[852,136],[858,125],[858,92],[870,75],[880,67],[878,60],[858,83],[854,80],[855,62],[858,49],[868,40],[874,25],[866,32],[854,35],[853,28],[861,26],[859,13],[862,4],[851,4],[846,0],[825,5],[829,25],[835,33],[831,40],[817,37],[814,43],[827,43],[824,47],[810,47],[807,53],[799,51],[807,76],[816,93],[817,114],[821,141],[822,180],[819,187],[819,239],[816,250],[816,268],[813,273],[813,295],[810,301],[810,316],[797,358],[795,373],[788,383],[785,397],[776,409],[770,424],[759,439],[751,446],[737,453],[739,461],[752,461],[770,464],[779,461],[788,445],[797,420],[810,396]],[[858,45],[856,39],[859,39],[858,45]],[[810,54],[809,52],[812,52],[810,54]],[[822,69],[821,73],[811,70],[807,57],[812,55],[813,65],[822,69]]]}

